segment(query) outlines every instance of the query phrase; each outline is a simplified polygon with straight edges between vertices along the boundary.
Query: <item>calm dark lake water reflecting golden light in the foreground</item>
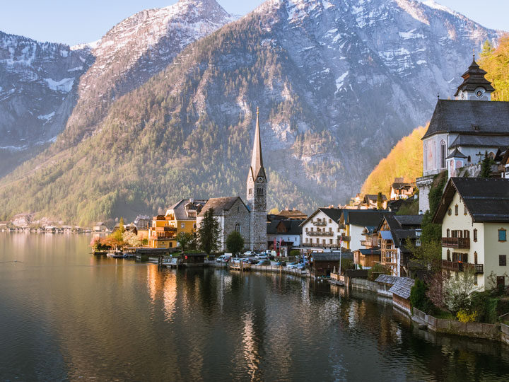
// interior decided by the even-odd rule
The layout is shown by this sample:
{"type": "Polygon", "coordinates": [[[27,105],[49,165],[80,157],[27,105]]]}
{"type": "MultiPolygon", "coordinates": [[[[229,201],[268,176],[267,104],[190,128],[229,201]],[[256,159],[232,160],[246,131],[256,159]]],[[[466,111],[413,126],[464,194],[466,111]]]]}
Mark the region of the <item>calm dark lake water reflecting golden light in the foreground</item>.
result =
{"type": "Polygon", "coordinates": [[[0,381],[509,381],[509,348],[419,331],[373,294],[89,242],[0,233],[0,381]]]}

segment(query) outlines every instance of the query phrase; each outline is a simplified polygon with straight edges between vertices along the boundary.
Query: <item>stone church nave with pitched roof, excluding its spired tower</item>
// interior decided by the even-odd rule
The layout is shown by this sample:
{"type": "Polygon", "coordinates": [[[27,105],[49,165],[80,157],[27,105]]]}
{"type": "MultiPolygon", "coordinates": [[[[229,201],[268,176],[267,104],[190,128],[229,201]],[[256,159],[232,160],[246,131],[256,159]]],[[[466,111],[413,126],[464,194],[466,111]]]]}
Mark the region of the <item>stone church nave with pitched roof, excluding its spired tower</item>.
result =
{"type": "MultiPolygon", "coordinates": [[[[198,226],[203,221],[205,213],[213,209],[213,217],[219,223],[220,235],[218,238],[219,250],[226,250],[226,238],[237,231],[244,238],[248,247],[250,243],[250,210],[240,197],[213,197],[201,209],[198,214],[198,226]]],[[[265,235],[267,236],[267,223],[265,223],[265,235]]],[[[267,243],[264,244],[267,246],[267,243]]]]}

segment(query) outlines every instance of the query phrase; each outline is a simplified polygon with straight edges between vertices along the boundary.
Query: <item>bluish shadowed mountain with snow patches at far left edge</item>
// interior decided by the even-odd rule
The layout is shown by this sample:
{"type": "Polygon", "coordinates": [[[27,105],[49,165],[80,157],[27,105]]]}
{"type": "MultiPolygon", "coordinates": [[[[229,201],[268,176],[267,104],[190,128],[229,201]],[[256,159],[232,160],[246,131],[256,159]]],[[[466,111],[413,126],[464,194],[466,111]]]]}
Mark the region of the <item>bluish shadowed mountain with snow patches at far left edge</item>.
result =
{"type": "Polygon", "coordinates": [[[0,176],[62,132],[91,59],[86,50],[0,32],[0,176]]]}

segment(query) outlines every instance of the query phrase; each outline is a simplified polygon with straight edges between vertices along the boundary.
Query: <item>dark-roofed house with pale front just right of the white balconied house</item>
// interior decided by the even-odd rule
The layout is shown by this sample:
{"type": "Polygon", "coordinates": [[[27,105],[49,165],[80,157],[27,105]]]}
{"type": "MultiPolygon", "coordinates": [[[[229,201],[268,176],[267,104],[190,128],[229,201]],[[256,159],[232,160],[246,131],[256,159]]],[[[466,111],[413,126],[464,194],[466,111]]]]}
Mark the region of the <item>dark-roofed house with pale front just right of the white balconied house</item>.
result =
{"type": "Polygon", "coordinates": [[[383,209],[343,209],[338,226],[344,247],[351,251],[361,249],[365,228],[378,226],[383,216],[392,214],[383,209]]]}

